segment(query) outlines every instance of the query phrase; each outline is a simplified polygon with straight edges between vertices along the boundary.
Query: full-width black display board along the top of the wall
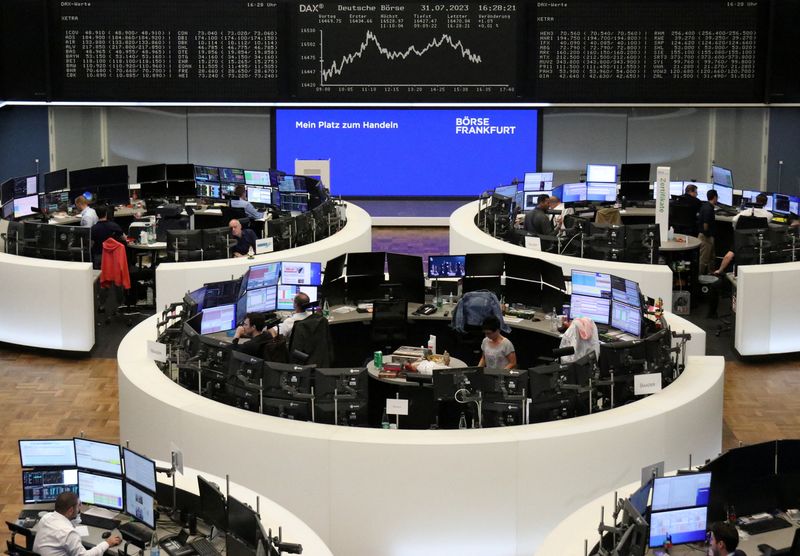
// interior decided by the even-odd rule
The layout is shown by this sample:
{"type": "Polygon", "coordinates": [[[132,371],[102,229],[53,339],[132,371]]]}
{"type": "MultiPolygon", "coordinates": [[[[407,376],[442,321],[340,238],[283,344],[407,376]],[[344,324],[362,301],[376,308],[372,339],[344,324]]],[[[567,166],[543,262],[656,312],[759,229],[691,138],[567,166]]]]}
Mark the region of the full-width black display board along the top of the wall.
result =
{"type": "Polygon", "coordinates": [[[5,0],[0,97],[761,103],[795,0],[5,0]]]}

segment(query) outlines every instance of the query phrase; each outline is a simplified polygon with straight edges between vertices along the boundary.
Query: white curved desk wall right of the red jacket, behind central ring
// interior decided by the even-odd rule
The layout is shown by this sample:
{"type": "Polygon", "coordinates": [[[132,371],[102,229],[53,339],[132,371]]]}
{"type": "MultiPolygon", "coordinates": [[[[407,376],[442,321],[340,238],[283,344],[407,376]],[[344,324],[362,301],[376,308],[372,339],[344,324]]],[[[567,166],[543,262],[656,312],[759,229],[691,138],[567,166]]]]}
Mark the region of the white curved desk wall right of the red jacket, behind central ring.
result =
{"type": "Polygon", "coordinates": [[[250,259],[238,257],[213,261],[164,263],[156,269],[156,308],[183,299],[187,291],[207,282],[230,280],[241,276],[254,264],[271,261],[309,261],[325,263],[344,253],[372,251],[372,220],[367,212],[352,203],[347,204],[347,224],[330,237],[274,253],[256,255],[250,259]]]}

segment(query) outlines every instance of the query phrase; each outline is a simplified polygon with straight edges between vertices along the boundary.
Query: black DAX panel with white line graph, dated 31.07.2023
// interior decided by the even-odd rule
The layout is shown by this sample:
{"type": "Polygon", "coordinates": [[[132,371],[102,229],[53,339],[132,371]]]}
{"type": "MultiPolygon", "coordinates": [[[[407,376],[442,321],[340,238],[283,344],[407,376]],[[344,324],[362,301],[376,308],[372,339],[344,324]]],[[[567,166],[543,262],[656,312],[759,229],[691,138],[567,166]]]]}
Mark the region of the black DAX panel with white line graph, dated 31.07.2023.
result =
{"type": "Polygon", "coordinates": [[[297,4],[304,98],[510,98],[515,2],[297,4]]]}

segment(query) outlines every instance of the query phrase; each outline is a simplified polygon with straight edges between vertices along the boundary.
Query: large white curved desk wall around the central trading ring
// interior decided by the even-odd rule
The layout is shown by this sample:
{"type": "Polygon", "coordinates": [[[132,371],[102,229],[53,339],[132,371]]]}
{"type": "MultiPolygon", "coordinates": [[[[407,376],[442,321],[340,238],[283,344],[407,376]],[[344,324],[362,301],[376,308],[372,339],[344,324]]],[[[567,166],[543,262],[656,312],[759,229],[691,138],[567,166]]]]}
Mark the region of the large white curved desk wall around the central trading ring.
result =
{"type": "Polygon", "coordinates": [[[202,398],[147,359],[155,317],[118,352],[120,438],[286,507],[335,554],[529,555],[564,517],[645,465],[702,461],[722,445],[721,357],[690,357],[660,394],[596,415],[483,430],[294,422],[202,398]]]}

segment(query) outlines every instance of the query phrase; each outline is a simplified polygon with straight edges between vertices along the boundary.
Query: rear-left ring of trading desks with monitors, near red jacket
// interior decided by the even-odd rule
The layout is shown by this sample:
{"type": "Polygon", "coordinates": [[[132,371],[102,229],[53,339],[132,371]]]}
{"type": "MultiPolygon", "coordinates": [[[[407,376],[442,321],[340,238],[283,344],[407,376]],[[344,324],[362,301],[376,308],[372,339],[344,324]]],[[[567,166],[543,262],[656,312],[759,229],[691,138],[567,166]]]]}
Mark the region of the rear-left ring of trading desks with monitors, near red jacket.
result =
{"type": "Polygon", "coordinates": [[[63,169],[5,181],[0,186],[0,205],[2,217],[11,221],[4,238],[5,252],[91,260],[90,231],[57,225],[80,221],[75,207],[78,197],[83,197],[89,207],[126,207],[132,202],[141,207],[146,202],[154,215],[150,222],[141,208],[118,210],[116,218],[112,210],[109,219],[123,226],[132,224],[131,237],[145,246],[166,242],[164,261],[231,256],[228,221],[232,218],[273,238],[273,250],[323,239],[343,224],[343,215],[319,180],[277,170],[156,164],[138,167],[137,180],[134,186],[129,185],[127,166],[120,165],[70,172],[63,169]],[[207,206],[212,209],[201,208],[207,206]],[[271,219],[263,229],[267,215],[271,219]]]}

